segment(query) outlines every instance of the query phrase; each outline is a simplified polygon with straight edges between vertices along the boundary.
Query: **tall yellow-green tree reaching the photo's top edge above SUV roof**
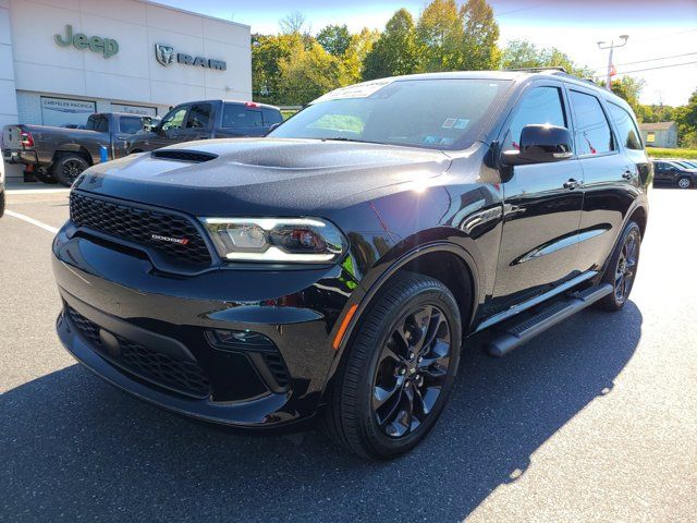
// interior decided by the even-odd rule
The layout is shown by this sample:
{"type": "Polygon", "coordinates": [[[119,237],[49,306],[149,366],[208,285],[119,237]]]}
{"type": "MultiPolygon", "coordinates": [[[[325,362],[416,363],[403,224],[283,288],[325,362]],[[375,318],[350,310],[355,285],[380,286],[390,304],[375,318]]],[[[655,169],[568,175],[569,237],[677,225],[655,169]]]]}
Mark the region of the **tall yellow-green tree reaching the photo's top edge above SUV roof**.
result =
{"type": "Polygon", "coordinates": [[[465,24],[460,69],[464,71],[497,69],[501,56],[497,46],[499,24],[493,17],[491,7],[485,0],[468,0],[460,9],[460,17],[465,24]]]}

